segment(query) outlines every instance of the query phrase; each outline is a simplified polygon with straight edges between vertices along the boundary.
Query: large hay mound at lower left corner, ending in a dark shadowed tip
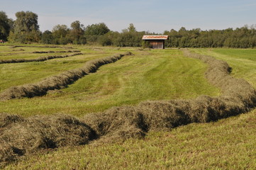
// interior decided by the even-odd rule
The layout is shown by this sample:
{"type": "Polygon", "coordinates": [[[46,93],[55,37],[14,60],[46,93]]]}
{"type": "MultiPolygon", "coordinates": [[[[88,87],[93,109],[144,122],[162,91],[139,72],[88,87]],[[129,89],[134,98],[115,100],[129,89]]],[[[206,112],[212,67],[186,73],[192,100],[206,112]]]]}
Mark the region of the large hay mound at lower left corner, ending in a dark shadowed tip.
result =
{"type": "Polygon", "coordinates": [[[94,130],[72,116],[36,115],[1,130],[0,163],[39,149],[84,145],[95,138],[94,130]]]}

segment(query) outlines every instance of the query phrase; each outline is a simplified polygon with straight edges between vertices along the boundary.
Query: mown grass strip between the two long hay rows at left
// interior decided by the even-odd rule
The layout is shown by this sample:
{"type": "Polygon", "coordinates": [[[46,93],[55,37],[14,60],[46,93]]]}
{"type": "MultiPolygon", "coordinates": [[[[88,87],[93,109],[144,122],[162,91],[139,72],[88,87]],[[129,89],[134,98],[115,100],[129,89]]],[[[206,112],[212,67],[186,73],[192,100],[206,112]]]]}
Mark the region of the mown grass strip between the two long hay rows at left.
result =
{"type": "Polygon", "coordinates": [[[45,62],[0,64],[0,92],[10,86],[35,83],[46,77],[82,67],[89,60],[108,55],[76,55],[70,58],[46,60],[45,62]]]}

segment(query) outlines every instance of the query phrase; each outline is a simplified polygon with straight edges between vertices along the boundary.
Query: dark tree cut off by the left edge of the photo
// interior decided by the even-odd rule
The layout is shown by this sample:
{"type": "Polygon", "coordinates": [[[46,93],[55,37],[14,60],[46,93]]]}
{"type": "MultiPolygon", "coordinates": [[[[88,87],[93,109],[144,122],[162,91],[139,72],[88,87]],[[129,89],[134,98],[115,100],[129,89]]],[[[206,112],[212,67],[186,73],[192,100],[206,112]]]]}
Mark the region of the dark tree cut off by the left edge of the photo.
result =
{"type": "Polygon", "coordinates": [[[7,40],[11,30],[11,20],[6,16],[4,11],[0,11],[0,40],[7,40]]]}

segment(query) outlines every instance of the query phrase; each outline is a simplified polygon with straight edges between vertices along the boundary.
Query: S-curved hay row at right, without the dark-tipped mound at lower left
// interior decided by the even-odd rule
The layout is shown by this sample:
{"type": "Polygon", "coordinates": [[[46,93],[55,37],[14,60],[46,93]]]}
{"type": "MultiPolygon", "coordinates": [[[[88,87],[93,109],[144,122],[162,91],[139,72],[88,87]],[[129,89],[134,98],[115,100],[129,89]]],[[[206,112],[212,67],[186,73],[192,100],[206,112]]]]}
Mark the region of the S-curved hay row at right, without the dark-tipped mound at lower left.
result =
{"type": "Polygon", "coordinates": [[[226,62],[182,50],[187,57],[208,64],[206,78],[221,89],[221,96],[190,100],[145,101],[138,106],[111,108],[84,116],[83,121],[104,139],[143,137],[149,130],[170,130],[188,123],[207,123],[246,113],[256,106],[256,91],[244,79],[231,77],[226,62]]]}

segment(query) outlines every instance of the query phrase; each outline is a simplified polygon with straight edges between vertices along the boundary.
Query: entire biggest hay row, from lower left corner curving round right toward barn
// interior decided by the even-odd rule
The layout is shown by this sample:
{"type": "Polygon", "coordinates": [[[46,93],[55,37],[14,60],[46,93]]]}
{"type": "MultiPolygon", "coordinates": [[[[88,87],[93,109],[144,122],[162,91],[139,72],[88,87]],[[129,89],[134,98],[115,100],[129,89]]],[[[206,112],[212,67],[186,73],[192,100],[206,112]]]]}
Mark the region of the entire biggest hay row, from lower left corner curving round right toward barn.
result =
{"type": "Polygon", "coordinates": [[[144,137],[150,130],[171,130],[188,123],[207,123],[249,111],[256,106],[256,91],[243,79],[230,77],[226,62],[183,50],[184,55],[209,65],[206,78],[218,86],[218,97],[190,100],[145,101],[138,106],[113,107],[84,118],[69,115],[0,116],[0,162],[10,162],[38,149],[144,137]]]}

